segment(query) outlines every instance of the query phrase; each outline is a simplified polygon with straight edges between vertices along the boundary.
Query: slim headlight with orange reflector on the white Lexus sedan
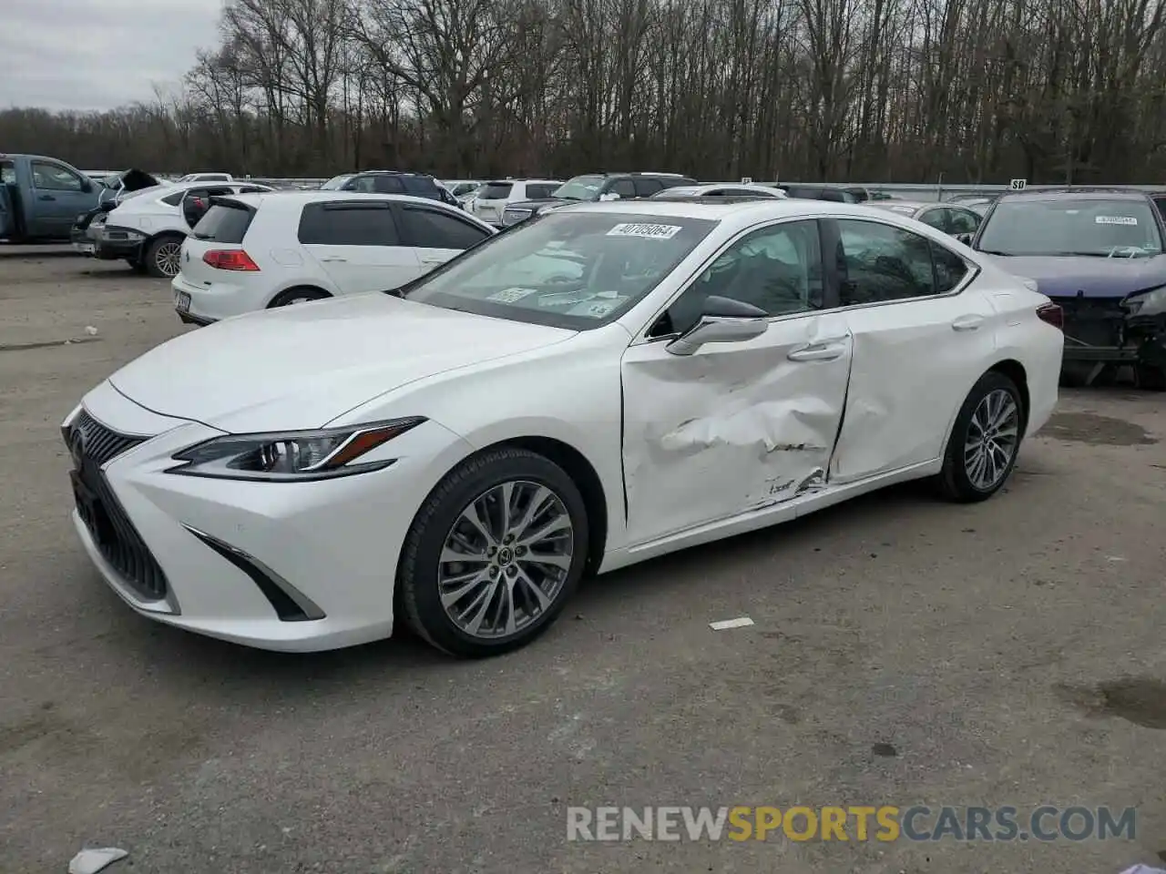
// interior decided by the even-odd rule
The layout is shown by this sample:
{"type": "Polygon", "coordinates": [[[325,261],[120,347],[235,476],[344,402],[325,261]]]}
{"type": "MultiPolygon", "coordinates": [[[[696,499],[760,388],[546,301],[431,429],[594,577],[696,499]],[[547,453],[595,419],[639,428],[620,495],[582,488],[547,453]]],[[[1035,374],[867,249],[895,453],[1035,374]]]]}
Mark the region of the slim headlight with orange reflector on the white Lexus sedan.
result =
{"type": "Polygon", "coordinates": [[[424,418],[396,418],[367,425],[285,434],[212,437],[173,456],[182,461],[167,473],[219,479],[303,482],[378,471],[396,459],[361,461],[382,443],[416,428],[424,418]]]}

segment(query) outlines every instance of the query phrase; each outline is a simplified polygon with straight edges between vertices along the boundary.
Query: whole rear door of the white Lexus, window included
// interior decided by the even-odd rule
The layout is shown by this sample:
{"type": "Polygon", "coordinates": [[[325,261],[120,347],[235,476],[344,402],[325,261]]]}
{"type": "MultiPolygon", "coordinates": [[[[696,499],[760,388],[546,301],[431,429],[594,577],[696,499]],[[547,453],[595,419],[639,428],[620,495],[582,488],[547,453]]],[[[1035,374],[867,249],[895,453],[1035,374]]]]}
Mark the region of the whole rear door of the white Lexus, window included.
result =
{"type": "Polygon", "coordinates": [[[854,337],[854,368],[830,480],[930,461],[991,364],[996,311],[975,267],[876,219],[826,223],[831,282],[854,337]]]}

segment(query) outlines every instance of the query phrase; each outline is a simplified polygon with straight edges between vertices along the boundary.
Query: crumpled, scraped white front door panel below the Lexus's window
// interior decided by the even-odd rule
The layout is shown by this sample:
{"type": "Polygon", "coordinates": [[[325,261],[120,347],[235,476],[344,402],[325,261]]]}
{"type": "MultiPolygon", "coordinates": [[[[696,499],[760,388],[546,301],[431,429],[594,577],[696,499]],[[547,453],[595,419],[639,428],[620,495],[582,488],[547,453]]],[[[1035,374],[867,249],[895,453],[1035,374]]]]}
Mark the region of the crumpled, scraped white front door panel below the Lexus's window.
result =
{"type": "Polygon", "coordinates": [[[621,366],[632,544],[822,486],[850,374],[841,313],[775,319],[688,357],[666,346],[631,346],[621,366]]]}

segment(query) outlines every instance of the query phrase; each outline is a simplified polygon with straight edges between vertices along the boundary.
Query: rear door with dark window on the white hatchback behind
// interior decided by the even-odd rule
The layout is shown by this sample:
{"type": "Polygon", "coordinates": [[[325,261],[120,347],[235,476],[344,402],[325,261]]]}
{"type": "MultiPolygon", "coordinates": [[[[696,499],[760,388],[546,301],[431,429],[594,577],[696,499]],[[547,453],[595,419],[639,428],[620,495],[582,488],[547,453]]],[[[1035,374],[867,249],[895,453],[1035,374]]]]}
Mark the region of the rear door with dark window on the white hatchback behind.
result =
{"type": "Polygon", "coordinates": [[[298,235],[340,294],[386,291],[422,273],[416,253],[401,245],[388,200],[307,204],[298,235]]]}

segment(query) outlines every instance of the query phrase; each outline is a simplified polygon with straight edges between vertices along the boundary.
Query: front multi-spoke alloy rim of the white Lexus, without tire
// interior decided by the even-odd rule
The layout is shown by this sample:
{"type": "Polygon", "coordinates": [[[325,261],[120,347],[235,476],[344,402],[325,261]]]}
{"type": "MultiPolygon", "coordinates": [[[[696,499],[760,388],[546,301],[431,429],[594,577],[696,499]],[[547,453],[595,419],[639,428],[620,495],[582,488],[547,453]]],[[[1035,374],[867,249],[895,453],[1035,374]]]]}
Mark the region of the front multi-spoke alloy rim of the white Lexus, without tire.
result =
{"type": "Polygon", "coordinates": [[[510,480],[470,501],[438,558],[445,615],[472,637],[508,637],[552,607],[567,582],[575,530],[547,486],[510,480]]]}

